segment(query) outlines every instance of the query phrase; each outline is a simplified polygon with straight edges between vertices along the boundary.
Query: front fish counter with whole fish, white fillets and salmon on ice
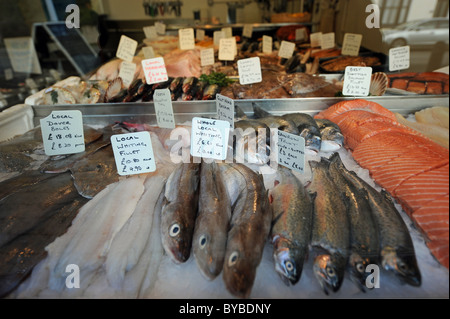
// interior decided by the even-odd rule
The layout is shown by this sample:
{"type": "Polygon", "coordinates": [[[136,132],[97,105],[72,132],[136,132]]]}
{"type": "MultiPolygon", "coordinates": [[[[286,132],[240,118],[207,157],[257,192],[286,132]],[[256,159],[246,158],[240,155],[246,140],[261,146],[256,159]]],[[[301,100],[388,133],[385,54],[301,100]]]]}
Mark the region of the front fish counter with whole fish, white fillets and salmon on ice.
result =
{"type": "Polygon", "coordinates": [[[35,129],[0,143],[0,295],[448,298],[448,137],[417,130],[446,117],[448,136],[448,96],[235,108],[258,150],[244,133],[242,158],[230,139],[216,163],[189,155],[215,101],[173,101],[174,130],[153,102],[33,105],[35,129]],[[40,120],[58,110],[81,112],[84,152],[45,154],[40,120]],[[302,173],[270,157],[276,130],[304,137],[302,173]],[[111,137],[144,131],[156,171],[119,175],[111,137]]]}

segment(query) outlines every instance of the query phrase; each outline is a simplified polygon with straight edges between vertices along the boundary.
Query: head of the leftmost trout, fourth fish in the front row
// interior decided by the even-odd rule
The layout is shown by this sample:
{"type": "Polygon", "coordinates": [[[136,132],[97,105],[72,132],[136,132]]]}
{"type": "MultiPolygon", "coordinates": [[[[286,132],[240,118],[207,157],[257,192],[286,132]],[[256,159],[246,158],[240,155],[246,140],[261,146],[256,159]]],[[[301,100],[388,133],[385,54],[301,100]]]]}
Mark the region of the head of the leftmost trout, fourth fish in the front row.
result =
{"type": "Polygon", "coordinates": [[[295,285],[300,280],[304,258],[298,249],[281,237],[275,239],[273,248],[276,272],[287,286],[295,285]]]}

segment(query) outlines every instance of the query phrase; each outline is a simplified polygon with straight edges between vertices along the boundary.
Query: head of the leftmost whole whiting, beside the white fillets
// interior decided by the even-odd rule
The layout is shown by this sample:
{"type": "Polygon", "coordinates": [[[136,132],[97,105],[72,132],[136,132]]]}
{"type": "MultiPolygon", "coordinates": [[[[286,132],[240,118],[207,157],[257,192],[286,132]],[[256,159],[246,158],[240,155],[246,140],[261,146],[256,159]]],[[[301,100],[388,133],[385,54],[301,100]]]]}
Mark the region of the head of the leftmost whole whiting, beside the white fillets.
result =
{"type": "Polygon", "coordinates": [[[161,218],[161,238],[164,250],[176,263],[189,259],[192,244],[192,223],[183,214],[185,207],[169,203],[163,207],[161,218]]]}

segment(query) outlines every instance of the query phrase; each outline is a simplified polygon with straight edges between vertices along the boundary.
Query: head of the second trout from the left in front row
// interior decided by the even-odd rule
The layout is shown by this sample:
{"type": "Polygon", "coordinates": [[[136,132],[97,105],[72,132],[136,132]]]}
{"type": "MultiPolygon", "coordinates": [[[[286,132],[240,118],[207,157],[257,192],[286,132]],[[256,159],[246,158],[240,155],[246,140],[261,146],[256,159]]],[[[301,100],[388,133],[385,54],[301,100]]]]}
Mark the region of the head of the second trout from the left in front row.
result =
{"type": "Polygon", "coordinates": [[[325,294],[328,289],[336,292],[344,279],[341,263],[332,255],[319,255],[314,259],[313,271],[325,294]]]}

